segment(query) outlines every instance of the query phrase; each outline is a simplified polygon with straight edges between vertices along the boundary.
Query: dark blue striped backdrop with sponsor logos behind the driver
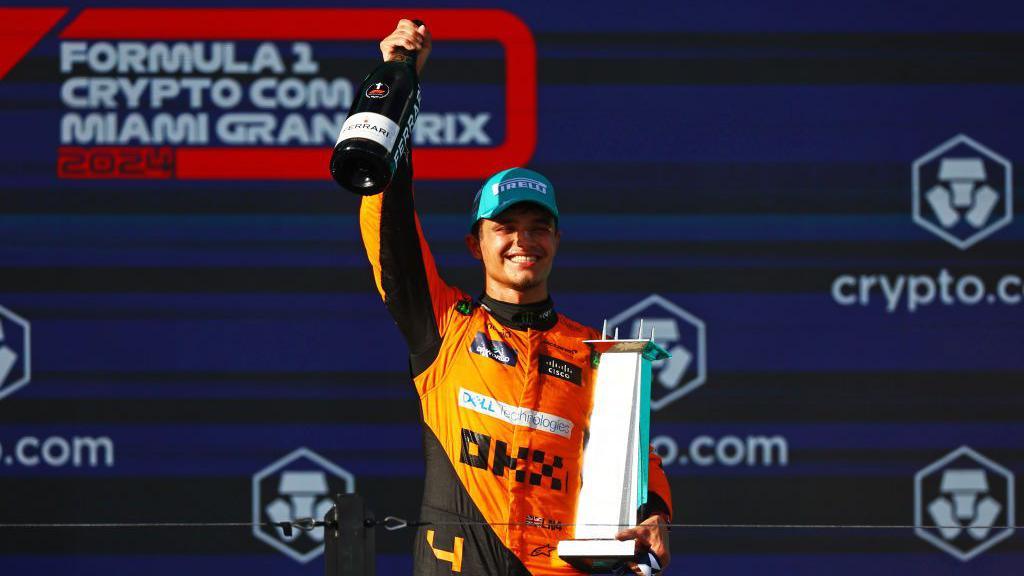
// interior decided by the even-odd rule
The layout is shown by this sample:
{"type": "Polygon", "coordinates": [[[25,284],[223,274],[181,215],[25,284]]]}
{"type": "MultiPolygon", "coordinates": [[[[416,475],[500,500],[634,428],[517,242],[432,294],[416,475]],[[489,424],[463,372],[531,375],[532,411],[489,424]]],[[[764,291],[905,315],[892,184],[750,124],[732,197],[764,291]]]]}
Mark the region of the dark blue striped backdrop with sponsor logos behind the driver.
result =
{"type": "Polygon", "coordinates": [[[672,573],[1024,570],[1019,3],[13,4],[0,573],[323,572],[321,534],[3,524],[350,490],[417,517],[404,346],[327,171],[397,13],[435,30],[417,204],[444,277],[479,293],[469,204],[526,164],[563,212],[559,310],[674,349],[653,444],[676,521],[716,526],[672,532],[672,573]]]}

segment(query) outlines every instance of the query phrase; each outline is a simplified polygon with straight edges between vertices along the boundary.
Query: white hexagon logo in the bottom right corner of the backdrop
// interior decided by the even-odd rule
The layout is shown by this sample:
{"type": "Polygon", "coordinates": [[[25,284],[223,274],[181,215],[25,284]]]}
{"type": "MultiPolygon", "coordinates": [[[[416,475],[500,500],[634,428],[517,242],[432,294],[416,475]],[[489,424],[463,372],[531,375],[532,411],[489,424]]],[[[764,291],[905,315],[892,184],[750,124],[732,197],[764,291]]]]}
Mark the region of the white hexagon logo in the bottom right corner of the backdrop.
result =
{"type": "Polygon", "coordinates": [[[962,446],[913,477],[914,533],[967,562],[1014,532],[1014,475],[962,446]]]}

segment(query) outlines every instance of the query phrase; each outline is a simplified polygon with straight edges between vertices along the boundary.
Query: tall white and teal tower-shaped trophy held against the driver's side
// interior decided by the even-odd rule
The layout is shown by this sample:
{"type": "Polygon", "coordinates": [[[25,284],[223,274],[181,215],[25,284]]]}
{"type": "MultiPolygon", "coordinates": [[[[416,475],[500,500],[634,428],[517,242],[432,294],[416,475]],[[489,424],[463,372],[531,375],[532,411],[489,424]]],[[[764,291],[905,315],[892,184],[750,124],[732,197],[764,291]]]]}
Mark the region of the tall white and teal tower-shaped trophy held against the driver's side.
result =
{"type": "MultiPolygon", "coordinates": [[[[605,326],[607,322],[605,322],[605,326]]],[[[558,558],[586,572],[610,572],[634,559],[636,542],[615,534],[637,525],[647,503],[650,444],[651,363],[671,355],[643,338],[587,340],[599,354],[590,436],[584,447],[583,486],[577,500],[575,534],[558,542],[558,558]]]]}

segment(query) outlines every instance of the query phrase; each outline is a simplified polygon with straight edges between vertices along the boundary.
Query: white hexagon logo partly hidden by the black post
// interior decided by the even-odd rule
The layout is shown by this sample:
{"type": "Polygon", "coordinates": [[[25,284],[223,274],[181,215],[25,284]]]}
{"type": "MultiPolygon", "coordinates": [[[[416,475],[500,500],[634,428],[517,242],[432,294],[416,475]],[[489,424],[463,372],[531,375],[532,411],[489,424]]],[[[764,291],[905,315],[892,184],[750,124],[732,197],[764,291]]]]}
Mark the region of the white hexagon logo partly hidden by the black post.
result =
{"type": "Polygon", "coordinates": [[[294,530],[292,536],[264,523],[321,520],[335,494],[355,490],[355,477],[308,448],[299,448],[253,476],[253,535],[306,564],[324,553],[324,529],[294,530]]]}

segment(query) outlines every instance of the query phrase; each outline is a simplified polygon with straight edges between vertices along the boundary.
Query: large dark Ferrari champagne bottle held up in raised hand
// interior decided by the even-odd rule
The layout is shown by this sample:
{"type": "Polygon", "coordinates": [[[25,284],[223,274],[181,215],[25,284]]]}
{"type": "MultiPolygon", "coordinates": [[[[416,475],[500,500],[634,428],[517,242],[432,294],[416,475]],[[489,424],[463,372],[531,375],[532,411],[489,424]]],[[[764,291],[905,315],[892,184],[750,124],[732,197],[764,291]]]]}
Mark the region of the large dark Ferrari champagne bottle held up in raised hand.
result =
{"type": "Polygon", "coordinates": [[[411,153],[410,138],[420,113],[417,54],[402,48],[395,51],[396,56],[362,81],[331,156],[331,175],[354,194],[383,192],[395,167],[411,153]]]}

